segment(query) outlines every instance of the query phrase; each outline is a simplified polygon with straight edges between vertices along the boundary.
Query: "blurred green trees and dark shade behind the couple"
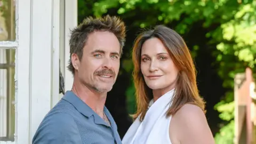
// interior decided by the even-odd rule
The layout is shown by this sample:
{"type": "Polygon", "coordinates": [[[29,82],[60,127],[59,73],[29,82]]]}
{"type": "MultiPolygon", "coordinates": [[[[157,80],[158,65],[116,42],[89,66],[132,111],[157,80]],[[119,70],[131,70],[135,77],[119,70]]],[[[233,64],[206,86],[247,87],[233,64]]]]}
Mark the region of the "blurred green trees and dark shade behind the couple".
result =
{"type": "Polygon", "coordinates": [[[135,111],[131,47],[142,28],[163,24],[177,31],[193,54],[215,141],[233,143],[235,74],[246,67],[255,71],[256,1],[78,0],[78,23],[106,14],[118,15],[127,26],[121,69],[106,102],[121,137],[135,111]]]}

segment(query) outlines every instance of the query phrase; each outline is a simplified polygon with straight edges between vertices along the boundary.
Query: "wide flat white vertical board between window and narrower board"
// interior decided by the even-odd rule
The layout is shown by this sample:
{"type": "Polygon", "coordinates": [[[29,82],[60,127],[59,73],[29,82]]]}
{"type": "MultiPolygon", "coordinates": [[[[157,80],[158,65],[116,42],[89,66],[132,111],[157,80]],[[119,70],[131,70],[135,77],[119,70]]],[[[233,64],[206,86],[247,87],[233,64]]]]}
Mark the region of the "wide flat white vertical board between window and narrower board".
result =
{"type": "Polygon", "coordinates": [[[38,125],[51,109],[53,1],[33,1],[32,9],[29,140],[33,139],[38,125]]]}

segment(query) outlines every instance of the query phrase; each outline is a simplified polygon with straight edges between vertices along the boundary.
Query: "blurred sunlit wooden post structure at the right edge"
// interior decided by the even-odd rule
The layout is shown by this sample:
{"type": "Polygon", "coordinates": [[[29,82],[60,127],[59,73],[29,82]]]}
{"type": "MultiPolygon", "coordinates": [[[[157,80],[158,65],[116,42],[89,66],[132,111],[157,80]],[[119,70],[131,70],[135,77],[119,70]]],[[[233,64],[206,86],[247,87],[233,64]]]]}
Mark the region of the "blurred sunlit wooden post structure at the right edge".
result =
{"type": "Polygon", "coordinates": [[[256,144],[256,92],[252,70],[235,76],[235,144],[256,144]]]}

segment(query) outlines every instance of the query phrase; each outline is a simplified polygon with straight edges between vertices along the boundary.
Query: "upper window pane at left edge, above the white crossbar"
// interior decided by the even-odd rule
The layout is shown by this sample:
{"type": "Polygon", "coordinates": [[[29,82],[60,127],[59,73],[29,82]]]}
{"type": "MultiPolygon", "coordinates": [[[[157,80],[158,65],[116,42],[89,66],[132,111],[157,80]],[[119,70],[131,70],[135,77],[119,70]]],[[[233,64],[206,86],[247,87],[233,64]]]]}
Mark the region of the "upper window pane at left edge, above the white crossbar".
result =
{"type": "Polygon", "coordinates": [[[15,0],[0,0],[0,41],[15,41],[15,0]]]}

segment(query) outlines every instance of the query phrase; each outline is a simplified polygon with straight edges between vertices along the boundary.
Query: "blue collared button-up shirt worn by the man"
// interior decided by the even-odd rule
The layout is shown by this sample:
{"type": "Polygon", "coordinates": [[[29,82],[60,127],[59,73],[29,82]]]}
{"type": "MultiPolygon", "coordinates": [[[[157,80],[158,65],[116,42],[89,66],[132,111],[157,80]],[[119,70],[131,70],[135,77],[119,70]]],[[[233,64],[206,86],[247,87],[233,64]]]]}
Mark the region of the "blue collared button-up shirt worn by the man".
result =
{"type": "Polygon", "coordinates": [[[32,143],[122,143],[116,123],[106,107],[104,112],[111,126],[73,92],[67,91],[44,117],[32,143]]]}

